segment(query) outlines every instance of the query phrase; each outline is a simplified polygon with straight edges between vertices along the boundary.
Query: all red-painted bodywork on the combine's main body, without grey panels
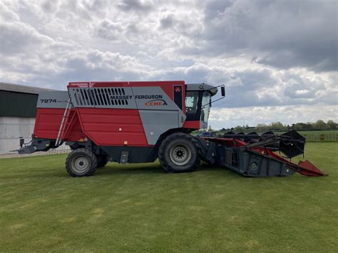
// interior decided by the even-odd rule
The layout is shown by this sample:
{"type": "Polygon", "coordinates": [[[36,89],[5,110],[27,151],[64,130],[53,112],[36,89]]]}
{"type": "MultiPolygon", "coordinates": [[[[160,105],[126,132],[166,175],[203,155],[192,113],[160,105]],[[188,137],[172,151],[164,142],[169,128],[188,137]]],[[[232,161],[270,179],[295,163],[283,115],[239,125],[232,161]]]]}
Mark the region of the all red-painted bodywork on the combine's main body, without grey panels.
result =
{"type": "MultiPolygon", "coordinates": [[[[75,82],[70,87],[147,87],[159,86],[173,100],[173,86],[182,86],[185,113],[185,82],[75,82]]],[[[34,138],[56,139],[64,108],[37,108],[34,138]]],[[[60,138],[69,141],[92,140],[96,145],[149,147],[137,109],[71,108],[60,138]]],[[[185,121],[183,128],[200,129],[200,121],[185,121]]]]}

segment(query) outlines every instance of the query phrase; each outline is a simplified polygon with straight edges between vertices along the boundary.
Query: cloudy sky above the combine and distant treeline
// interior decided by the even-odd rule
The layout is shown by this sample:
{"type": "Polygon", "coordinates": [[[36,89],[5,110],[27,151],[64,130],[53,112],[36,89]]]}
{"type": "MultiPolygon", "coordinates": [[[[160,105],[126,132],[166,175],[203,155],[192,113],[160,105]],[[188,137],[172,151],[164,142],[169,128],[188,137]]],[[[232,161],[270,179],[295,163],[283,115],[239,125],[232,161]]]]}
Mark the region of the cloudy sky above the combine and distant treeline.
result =
{"type": "Polygon", "coordinates": [[[0,81],[225,84],[212,128],[338,121],[338,1],[0,1],[0,81]]]}

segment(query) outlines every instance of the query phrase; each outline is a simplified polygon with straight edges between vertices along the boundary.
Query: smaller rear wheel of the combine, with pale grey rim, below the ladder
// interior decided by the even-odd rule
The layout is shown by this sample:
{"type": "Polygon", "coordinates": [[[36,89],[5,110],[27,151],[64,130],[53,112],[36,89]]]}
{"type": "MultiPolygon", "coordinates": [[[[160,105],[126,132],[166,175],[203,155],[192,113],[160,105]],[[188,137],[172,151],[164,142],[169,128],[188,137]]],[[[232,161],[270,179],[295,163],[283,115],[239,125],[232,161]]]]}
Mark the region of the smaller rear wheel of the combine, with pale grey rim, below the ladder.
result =
{"type": "Polygon", "coordinates": [[[96,165],[96,156],[86,148],[73,150],[66,159],[66,170],[72,177],[93,175],[96,165]]]}

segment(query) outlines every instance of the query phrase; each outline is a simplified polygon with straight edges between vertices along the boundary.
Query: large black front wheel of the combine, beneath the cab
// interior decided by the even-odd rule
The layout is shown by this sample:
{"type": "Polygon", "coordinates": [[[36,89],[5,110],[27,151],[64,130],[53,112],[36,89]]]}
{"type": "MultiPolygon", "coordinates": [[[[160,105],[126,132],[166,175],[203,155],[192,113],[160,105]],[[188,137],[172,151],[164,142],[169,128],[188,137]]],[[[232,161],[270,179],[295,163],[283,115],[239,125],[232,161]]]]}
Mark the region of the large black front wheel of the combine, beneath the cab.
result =
{"type": "Polygon", "coordinates": [[[173,133],[161,143],[158,159],[167,172],[193,172],[200,164],[198,145],[188,134],[173,133]]]}

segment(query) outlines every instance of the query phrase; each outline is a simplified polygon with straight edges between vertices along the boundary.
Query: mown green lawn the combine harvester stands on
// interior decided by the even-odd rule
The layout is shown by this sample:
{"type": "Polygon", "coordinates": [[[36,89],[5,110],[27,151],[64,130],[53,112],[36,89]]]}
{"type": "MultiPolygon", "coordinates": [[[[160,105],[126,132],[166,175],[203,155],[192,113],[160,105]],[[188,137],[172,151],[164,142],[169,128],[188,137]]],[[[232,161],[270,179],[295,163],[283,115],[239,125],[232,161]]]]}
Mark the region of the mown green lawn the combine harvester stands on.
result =
{"type": "Polygon", "coordinates": [[[0,252],[337,252],[338,143],[305,155],[329,176],[113,163],[72,178],[66,155],[2,159],[0,252]]]}

